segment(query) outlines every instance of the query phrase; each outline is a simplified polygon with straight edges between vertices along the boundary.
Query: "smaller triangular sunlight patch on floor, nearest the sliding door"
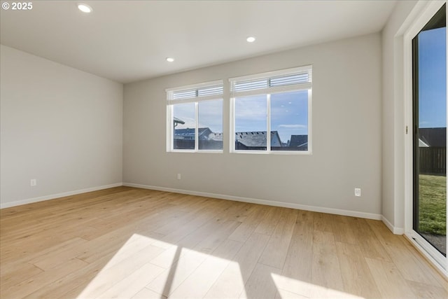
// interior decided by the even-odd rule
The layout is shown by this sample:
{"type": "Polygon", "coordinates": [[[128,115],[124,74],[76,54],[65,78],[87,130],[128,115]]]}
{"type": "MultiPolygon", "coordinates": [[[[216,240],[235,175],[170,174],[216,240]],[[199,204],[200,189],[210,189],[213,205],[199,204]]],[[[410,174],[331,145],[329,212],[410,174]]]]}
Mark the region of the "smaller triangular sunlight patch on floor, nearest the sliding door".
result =
{"type": "Polygon", "coordinates": [[[292,279],[279,274],[271,274],[281,298],[349,298],[363,299],[356,295],[325,288],[316,284],[292,279]]]}

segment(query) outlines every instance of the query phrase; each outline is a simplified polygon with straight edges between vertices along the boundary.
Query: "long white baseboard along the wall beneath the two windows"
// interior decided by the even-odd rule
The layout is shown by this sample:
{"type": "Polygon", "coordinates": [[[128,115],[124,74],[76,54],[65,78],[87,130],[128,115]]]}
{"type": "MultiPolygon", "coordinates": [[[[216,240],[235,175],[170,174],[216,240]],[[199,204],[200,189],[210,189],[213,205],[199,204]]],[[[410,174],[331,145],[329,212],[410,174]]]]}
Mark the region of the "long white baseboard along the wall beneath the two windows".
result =
{"type": "Polygon", "coordinates": [[[151,189],[151,190],[159,190],[159,191],[166,191],[166,192],[172,192],[172,193],[181,193],[181,194],[188,194],[188,195],[197,195],[197,196],[204,196],[204,197],[213,197],[213,198],[218,198],[221,200],[235,200],[237,202],[251,202],[253,204],[265,204],[268,206],[286,207],[286,208],[292,208],[292,209],[302,209],[302,210],[306,210],[306,211],[317,211],[317,212],[327,213],[327,214],[353,216],[353,217],[367,218],[367,219],[374,219],[374,220],[381,220],[381,217],[382,217],[380,214],[365,213],[365,212],[361,212],[361,211],[349,211],[349,210],[343,210],[343,209],[315,207],[315,206],[308,206],[308,205],[304,205],[304,204],[294,204],[291,202],[276,202],[276,201],[272,201],[272,200],[259,200],[259,199],[250,198],[250,197],[239,197],[239,196],[222,195],[222,194],[216,194],[216,193],[181,190],[181,189],[158,187],[158,186],[148,186],[148,185],[141,185],[138,183],[123,183],[123,186],[151,189]]]}

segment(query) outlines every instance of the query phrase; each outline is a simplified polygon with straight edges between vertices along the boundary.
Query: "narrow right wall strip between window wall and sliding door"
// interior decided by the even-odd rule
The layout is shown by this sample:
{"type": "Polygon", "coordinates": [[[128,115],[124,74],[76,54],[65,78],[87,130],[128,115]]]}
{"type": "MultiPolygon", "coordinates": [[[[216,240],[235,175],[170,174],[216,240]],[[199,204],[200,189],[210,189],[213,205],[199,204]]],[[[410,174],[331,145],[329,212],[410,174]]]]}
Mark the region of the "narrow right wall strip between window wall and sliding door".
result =
{"type": "Polygon", "coordinates": [[[417,1],[398,1],[382,32],[382,211],[395,233],[404,232],[405,102],[403,38],[405,21],[417,1]]]}

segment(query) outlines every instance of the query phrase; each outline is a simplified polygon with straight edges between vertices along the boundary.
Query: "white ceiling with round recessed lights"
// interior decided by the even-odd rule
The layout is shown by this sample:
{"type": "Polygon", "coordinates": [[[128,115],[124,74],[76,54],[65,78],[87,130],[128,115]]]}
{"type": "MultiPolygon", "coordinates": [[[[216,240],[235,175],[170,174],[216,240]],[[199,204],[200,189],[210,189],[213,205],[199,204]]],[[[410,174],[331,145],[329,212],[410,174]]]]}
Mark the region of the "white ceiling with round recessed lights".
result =
{"type": "Polygon", "coordinates": [[[379,32],[395,2],[32,1],[31,11],[1,9],[0,36],[5,46],[128,83],[379,32]]]}

